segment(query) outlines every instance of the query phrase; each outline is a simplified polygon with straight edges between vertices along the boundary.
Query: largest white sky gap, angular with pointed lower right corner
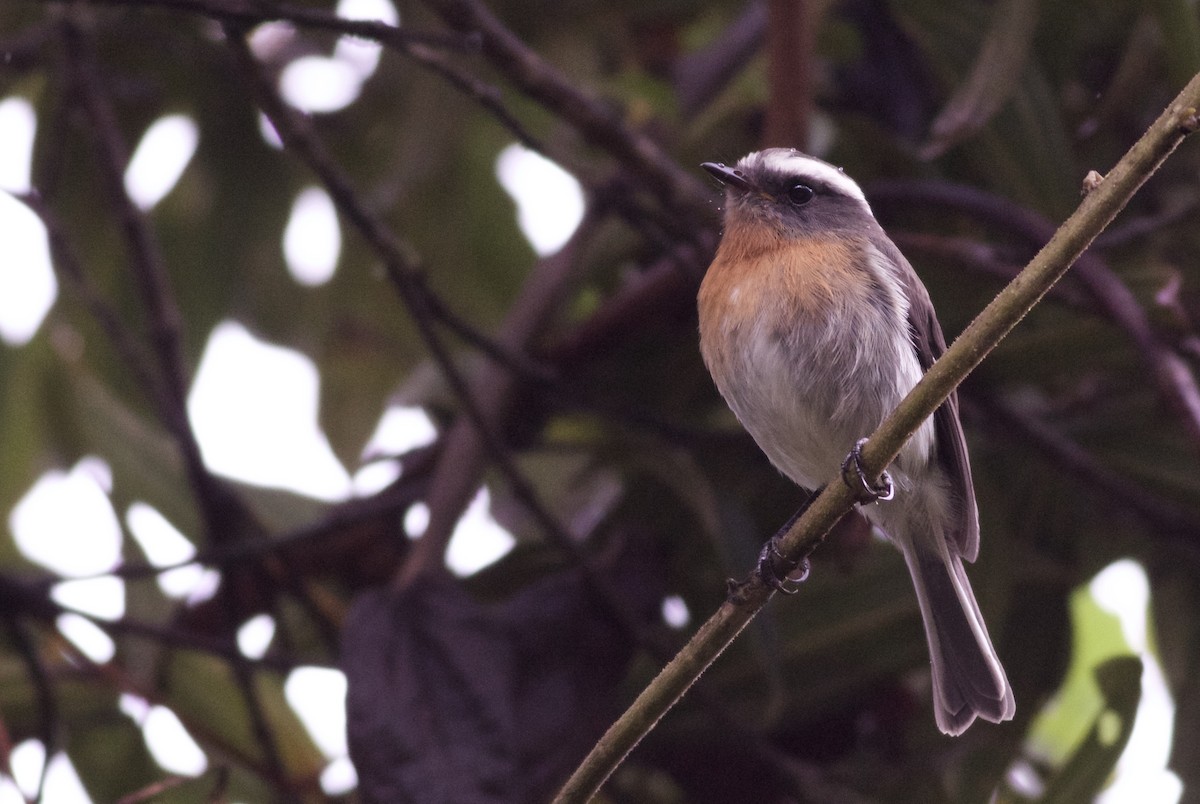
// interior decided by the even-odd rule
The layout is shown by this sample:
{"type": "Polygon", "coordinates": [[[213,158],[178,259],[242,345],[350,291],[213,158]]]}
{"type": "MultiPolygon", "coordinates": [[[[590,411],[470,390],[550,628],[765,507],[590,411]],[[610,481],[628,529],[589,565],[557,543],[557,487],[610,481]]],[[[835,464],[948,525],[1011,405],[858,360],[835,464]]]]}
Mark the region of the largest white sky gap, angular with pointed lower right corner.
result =
{"type": "Polygon", "coordinates": [[[350,478],[317,425],[318,395],[308,358],[218,324],[187,398],[204,462],[236,480],[346,499],[350,478]]]}

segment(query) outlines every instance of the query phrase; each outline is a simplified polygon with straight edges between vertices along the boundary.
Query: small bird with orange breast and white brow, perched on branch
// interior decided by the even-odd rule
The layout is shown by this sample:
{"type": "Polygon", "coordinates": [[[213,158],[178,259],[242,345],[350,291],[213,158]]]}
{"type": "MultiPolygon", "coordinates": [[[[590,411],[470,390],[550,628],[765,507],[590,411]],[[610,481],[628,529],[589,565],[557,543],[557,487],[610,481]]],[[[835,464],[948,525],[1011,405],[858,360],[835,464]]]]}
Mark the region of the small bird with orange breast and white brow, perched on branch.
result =
{"type": "MultiPolygon", "coordinates": [[[[946,350],[934,305],[841,169],[781,148],[703,168],[726,187],[700,288],[704,362],[770,462],[815,490],[946,350]]],[[[890,478],[894,498],[862,510],[912,575],[937,725],[960,734],[977,716],[1009,720],[1013,690],[962,569],[979,553],[979,518],[955,395],[890,478]]]]}

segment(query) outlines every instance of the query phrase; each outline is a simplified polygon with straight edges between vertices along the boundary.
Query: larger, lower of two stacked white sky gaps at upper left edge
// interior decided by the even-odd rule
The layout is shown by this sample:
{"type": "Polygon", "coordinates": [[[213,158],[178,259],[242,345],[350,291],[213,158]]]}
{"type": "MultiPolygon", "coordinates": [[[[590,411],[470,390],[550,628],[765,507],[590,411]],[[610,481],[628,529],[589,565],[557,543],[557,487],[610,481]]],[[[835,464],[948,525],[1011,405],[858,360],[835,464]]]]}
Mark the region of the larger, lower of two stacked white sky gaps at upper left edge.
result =
{"type": "MultiPolygon", "coordinates": [[[[0,148],[2,148],[0,143],[0,148]]],[[[0,166],[10,157],[0,151],[0,166]]],[[[2,168],[0,168],[2,169],[2,168]]],[[[59,295],[46,227],[32,210],[0,190],[0,340],[28,343],[59,295]]]]}

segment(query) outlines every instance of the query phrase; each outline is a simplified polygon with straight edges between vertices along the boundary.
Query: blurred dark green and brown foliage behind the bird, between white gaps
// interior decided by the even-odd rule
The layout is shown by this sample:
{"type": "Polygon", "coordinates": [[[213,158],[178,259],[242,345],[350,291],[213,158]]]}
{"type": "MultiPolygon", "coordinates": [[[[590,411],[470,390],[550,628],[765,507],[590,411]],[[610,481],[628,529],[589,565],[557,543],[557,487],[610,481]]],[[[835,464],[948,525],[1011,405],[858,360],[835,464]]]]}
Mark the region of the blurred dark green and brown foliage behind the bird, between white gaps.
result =
{"type": "MultiPolygon", "coordinates": [[[[444,35],[454,19],[446,10],[473,5],[404,0],[398,11],[404,30],[444,35]]],[[[101,456],[118,512],[136,500],[154,505],[199,550],[223,551],[208,558],[221,563],[224,582],[214,600],[187,606],[131,571],[125,618],[101,623],[116,655],[95,666],[58,635],[44,570],[0,539],[0,760],[36,737],[70,754],[97,802],[149,790],[168,774],[118,709],[121,692],[136,692],[170,707],[212,768],[154,800],[320,800],[324,758],[283,700],[282,679],[290,667],[340,660],[338,628],[360,600],[347,619],[355,649],[341,660],[358,702],[352,715],[360,715],[349,731],[362,784],[346,798],[476,800],[456,796],[457,781],[478,800],[546,798],[661,665],[664,642],[683,638],[660,623],[661,598],[679,595],[694,628],[802,498],[742,433],[700,361],[694,293],[718,228],[718,190],[707,203],[668,205],[620,146],[629,132],[658,143],[660,167],[701,188],[698,162],[758,148],[766,107],[786,102],[773,96],[757,47],[766,5],[488,2],[518,43],[575,88],[575,100],[599,98],[610,118],[590,131],[572,98],[522,85],[486,37],[466,49],[385,48],[352,106],[305,118],[362,209],[416,256],[421,286],[476,335],[503,332],[514,308],[539,293],[545,266],[496,180],[499,151],[528,136],[584,182],[594,234],[572,252],[569,281],[536,336],[504,343],[550,379],[516,373],[486,413],[589,571],[488,460],[493,512],[517,547],[466,582],[469,595],[421,586],[398,599],[416,608],[392,601],[391,614],[378,593],[361,598],[409,554],[403,515],[430,494],[439,445],[401,456],[401,479],[371,498],[318,504],[229,482],[221,505],[209,498],[205,506],[179,433],[59,254],[60,298],[41,330],[25,346],[0,346],[0,511],[46,469],[101,456]],[[422,58],[431,53],[476,82],[478,94],[431,70],[436,59],[422,58]],[[234,523],[227,529],[215,528],[222,511],[234,523]],[[607,589],[607,604],[593,584],[607,589]],[[612,620],[613,600],[636,616],[636,636],[629,622],[612,620]],[[259,612],[276,617],[280,635],[263,660],[238,658],[236,628],[259,612]],[[373,710],[366,692],[389,706],[373,710]],[[460,767],[427,754],[439,744],[422,730],[454,733],[476,721],[486,743],[476,756],[487,763],[460,767]],[[386,739],[374,744],[371,734],[386,739]]],[[[1052,230],[1078,203],[1087,170],[1111,166],[1200,67],[1200,22],[1187,0],[808,5],[820,14],[816,109],[810,143],[796,145],[845,166],[869,197],[878,187],[876,212],[906,245],[949,337],[1038,246],[1006,210],[1040,216],[1052,230]],[[1037,13],[1032,41],[1004,50],[1016,62],[995,53],[982,60],[989,38],[1022,28],[996,18],[1012,10],[1037,13]],[[976,97],[967,104],[976,116],[955,142],[923,158],[934,121],[968,80],[971,91],[1004,97],[976,97]],[[950,200],[930,202],[916,180],[950,200]],[[995,203],[956,203],[965,187],[995,203]]],[[[217,22],[229,6],[0,4],[0,97],[35,106],[34,186],[90,288],[151,359],[161,356],[155,316],[104,190],[112,164],[95,146],[103,133],[72,78],[84,56],[70,43],[82,38],[94,50],[94,82],[126,148],[164,114],[196,120],[196,157],[145,217],[181,313],[185,370],[194,372],[209,332],[230,318],[306,354],[322,377],[320,424],[353,472],[389,403],[425,406],[446,433],[464,421],[462,400],[344,205],[332,281],[306,288],[289,277],[280,246],[288,210],[320,180],[305,154],[259,133],[256,95],[217,22]],[[216,11],[187,11],[205,7],[216,11]]],[[[329,12],[332,4],[290,8],[329,12]]],[[[263,68],[277,76],[300,55],[331,53],[335,41],[298,24],[263,68]]],[[[817,552],[800,594],[751,625],[632,754],[605,800],[971,802],[996,791],[1026,800],[1008,775],[1014,763],[1034,768],[1049,799],[1085,800],[1106,784],[1129,737],[1141,664],[1114,658],[1124,653],[1110,649],[1118,631],[1073,590],[1121,558],[1151,578],[1154,658],[1175,696],[1177,733],[1189,736],[1175,743],[1170,767],[1196,794],[1200,430],[1189,419],[1200,407],[1181,409],[1177,400],[1196,401],[1198,178],[1200,150],[1186,143],[1092,252],[1130,292],[1144,331],[1068,277],[962,389],[983,523],[971,576],[1016,692],[1016,719],[977,724],[958,739],[937,733],[902,560],[851,534],[817,552]],[[1146,338],[1172,356],[1175,374],[1151,365],[1146,338]]],[[[445,342],[478,391],[496,362],[468,341],[445,342]]],[[[127,562],[142,565],[126,545],[127,562]]]]}

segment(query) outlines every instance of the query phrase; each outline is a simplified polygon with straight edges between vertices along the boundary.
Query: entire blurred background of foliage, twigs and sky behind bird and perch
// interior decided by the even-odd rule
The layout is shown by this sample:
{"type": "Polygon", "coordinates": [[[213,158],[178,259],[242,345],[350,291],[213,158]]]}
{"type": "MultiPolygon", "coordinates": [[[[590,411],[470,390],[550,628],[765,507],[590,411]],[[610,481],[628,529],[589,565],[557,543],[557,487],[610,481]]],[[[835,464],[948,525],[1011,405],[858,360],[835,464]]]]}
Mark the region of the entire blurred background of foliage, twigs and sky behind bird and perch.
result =
{"type": "MultiPolygon", "coordinates": [[[[1187,0],[247,8],[0,7],[0,803],[547,798],[803,498],[696,166],[845,166],[952,338],[1200,68],[1187,0]]],[[[937,733],[860,529],[612,800],[1196,794],[1198,179],[961,391],[1016,720],[937,733]]]]}

